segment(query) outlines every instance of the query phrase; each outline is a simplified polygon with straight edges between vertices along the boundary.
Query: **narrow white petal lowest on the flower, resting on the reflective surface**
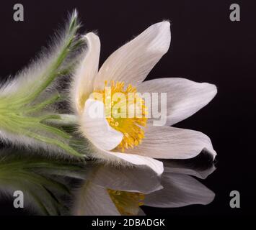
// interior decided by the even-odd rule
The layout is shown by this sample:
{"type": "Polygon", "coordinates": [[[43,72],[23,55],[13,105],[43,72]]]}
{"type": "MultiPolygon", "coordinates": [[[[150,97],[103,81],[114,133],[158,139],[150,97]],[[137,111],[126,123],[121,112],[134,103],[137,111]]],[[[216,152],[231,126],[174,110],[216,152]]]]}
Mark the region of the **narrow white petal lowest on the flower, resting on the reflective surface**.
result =
{"type": "Polygon", "coordinates": [[[104,162],[112,163],[112,165],[150,167],[157,175],[161,175],[164,171],[163,163],[151,157],[106,151],[100,148],[92,149],[89,154],[104,162]]]}

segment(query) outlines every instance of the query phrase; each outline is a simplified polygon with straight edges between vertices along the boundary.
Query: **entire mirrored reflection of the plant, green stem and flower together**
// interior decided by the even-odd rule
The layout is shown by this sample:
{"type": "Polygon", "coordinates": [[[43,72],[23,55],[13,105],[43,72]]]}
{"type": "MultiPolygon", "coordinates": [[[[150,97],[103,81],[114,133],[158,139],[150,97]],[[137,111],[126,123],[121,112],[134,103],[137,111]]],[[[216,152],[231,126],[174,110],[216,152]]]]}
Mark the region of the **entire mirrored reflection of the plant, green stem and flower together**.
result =
{"type": "Polygon", "coordinates": [[[148,167],[112,167],[17,151],[1,150],[1,214],[145,215],[154,208],[207,205],[215,197],[199,181],[216,169],[204,153],[189,161],[164,160],[159,177],[148,167]],[[21,198],[14,196],[17,190],[24,195],[24,208],[14,208],[21,198]]]}

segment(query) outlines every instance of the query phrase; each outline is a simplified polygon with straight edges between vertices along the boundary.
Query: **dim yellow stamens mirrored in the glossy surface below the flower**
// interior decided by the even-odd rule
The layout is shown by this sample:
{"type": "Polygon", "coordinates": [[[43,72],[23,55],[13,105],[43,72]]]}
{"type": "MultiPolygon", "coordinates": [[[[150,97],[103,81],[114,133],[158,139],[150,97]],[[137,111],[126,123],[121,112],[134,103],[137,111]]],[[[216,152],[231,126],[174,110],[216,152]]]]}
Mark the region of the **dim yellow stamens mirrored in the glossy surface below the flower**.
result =
{"type": "Polygon", "coordinates": [[[132,193],[118,190],[107,189],[108,194],[115,207],[121,215],[138,215],[139,206],[143,206],[145,195],[142,193],[132,193]]]}

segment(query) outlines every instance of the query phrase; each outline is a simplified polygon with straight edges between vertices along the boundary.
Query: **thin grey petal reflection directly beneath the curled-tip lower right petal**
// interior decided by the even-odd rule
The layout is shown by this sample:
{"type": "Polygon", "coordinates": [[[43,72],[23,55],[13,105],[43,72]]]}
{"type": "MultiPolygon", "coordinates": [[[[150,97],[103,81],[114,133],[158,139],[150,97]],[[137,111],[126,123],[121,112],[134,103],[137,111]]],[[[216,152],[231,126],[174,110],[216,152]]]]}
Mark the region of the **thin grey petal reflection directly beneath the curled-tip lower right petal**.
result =
{"type": "Polygon", "coordinates": [[[164,173],[165,172],[174,172],[185,175],[193,175],[200,179],[206,179],[208,175],[211,175],[216,170],[216,167],[211,164],[210,167],[205,169],[197,168],[197,167],[189,167],[186,165],[182,165],[182,162],[175,162],[173,160],[164,160],[164,173]]]}

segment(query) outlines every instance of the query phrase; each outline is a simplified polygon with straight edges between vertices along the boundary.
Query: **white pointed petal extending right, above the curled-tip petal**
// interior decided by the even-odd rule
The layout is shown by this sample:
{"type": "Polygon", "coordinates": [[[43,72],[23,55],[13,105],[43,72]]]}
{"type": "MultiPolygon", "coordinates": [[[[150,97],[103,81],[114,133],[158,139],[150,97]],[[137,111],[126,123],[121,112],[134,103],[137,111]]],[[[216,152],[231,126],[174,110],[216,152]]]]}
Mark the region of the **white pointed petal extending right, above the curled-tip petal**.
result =
{"type": "MultiPolygon", "coordinates": [[[[147,80],[138,86],[138,92],[167,93],[167,124],[172,125],[195,114],[216,95],[216,86],[196,83],[185,78],[159,78],[147,80]]],[[[160,105],[159,96],[159,105],[160,105]]],[[[158,111],[157,105],[152,109],[158,111]]]]}

